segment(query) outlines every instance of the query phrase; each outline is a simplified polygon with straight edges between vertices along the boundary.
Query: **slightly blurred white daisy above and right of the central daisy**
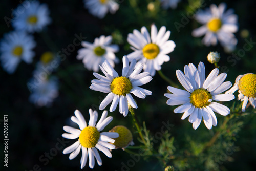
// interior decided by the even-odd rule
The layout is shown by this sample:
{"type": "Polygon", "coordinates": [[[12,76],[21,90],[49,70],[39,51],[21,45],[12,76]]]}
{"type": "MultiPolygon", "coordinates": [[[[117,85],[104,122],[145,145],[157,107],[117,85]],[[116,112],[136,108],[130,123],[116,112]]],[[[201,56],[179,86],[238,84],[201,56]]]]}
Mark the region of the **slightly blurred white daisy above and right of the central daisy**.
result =
{"type": "Polygon", "coordinates": [[[151,26],[151,36],[147,29],[143,26],[141,32],[133,30],[133,33],[129,33],[127,41],[132,45],[131,49],[134,52],[127,55],[129,61],[136,59],[137,65],[143,63],[144,72],[150,72],[151,76],[154,76],[156,70],[161,70],[163,62],[170,60],[167,55],[174,51],[175,43],[172,40],[168,40],[170,37],[170,31],[166,31],[166,27],[162,26],[157,33],[156,25],[151,26]]]}

